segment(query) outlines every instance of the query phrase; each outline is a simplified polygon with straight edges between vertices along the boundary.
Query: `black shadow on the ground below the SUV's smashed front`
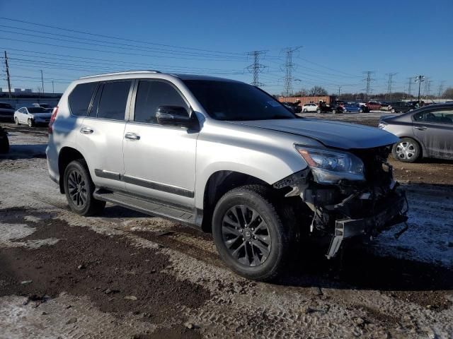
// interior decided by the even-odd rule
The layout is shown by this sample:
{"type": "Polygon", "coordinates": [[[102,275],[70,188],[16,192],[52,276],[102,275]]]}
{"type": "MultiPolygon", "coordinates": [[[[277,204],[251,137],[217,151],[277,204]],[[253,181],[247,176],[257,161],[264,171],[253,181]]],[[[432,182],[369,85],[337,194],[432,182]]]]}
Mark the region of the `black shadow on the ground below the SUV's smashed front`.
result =
{"type": "Polygon", "coordinates": [[[435,263],[372,253],[366,245],[346,246],[327,260],[319,249],[306,249],[289,265],[277,285],[333,287],[355,290],[453,290],[453,269],[435,263]]]}

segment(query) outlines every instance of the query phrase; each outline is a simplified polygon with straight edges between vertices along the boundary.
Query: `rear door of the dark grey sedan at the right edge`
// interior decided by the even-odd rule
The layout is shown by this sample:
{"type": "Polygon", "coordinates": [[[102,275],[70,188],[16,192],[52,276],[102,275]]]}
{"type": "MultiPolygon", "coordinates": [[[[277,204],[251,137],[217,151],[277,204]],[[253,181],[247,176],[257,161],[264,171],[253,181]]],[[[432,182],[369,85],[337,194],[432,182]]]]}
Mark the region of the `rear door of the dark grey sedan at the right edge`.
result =
{"type": "Polygon", "coordinates": [[[413,115],[413,133],[430,157],[453,159],[453,109],[430,109],[413,115]]]}

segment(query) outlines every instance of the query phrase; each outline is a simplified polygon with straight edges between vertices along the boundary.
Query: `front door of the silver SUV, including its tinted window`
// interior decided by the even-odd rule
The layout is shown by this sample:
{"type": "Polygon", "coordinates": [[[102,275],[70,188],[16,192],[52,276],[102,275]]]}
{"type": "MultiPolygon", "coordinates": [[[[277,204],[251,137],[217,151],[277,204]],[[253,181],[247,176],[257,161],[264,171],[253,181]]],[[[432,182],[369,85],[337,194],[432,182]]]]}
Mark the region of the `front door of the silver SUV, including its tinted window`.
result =
{"type": "Polygon", "coordinates": [[[134,90],[124,139],[127,191],[138,196],[195,206],[195,150],[197,131],[162,126],[157,107],[190,105],[168,81],[139,80],[134,90]]]}

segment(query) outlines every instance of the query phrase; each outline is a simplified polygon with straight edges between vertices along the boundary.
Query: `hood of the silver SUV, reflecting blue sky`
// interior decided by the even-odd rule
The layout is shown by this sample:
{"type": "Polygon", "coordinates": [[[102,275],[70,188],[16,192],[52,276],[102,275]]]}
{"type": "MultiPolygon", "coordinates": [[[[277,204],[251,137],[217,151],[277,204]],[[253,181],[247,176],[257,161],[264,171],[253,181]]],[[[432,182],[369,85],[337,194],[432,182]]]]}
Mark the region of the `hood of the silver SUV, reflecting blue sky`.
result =
{"type": "Polygon", "coordinates": [[[235,124],[314,138],[333,148],[374,148],[396,143],[399,138],[374,127],[319,119],[231,121],[235,124]]]}

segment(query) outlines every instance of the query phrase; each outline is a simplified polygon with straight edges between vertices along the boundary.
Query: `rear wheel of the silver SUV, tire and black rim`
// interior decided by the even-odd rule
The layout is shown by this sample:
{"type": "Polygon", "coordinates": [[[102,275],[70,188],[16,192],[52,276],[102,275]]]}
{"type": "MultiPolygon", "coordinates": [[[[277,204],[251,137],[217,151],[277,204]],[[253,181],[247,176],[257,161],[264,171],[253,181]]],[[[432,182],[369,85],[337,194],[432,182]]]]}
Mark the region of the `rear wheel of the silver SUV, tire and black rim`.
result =
{"type": "Polygon", "coordinates": [[[95,186],[91,181],[85,160],[69,162],[64,169],[63,180],[64,193],[71,210],[83,216],[101,213],[105,207],[105,201],[93,198],[95,186]]]}

